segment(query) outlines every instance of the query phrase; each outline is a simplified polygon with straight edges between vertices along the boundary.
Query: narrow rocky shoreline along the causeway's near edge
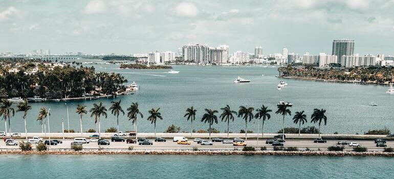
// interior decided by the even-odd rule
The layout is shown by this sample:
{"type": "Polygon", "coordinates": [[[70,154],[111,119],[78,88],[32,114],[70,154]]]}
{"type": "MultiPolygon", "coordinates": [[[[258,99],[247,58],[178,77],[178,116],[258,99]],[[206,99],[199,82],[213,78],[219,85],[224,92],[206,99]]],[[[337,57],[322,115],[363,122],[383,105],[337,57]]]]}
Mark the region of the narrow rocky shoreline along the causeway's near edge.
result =
{"type": "Polygon", "coordinates": [[[0,154],[39,154],[39,155],[304,155],[304,156],[389,156],[394,152],[354,152],[354,151],[238,151],[238,150],[47,150],[47,151],[21,151],[1,150],[0,154]]]}

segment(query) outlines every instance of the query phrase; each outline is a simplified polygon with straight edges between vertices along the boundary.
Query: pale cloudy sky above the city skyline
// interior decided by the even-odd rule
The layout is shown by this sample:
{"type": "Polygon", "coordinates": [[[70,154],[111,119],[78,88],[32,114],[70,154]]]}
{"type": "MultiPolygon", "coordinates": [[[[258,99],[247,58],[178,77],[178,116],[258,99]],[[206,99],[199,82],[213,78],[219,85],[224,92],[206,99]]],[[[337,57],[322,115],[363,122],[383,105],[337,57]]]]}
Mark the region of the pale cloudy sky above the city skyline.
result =
{"type": "Polygon", "coordinates": [[[0,0],[0,52],[148,53],[184,44],[227,44],[264,54],[394,55],[394,0],[105,1],[0,0]]]}

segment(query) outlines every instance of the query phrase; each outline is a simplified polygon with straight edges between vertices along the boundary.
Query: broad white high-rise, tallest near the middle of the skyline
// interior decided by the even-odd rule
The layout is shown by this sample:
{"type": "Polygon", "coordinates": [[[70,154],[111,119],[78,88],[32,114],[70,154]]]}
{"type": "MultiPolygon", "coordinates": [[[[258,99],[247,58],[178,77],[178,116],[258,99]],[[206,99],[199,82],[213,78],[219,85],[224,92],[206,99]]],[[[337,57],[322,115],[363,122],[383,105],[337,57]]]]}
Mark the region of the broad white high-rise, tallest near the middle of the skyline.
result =
{"type": "Polygon", "coordinates": [[[199,43],[185,45],[182,47],[182,57],[185,61],[207,63],[209,60],[209,47],[199,43]]]}

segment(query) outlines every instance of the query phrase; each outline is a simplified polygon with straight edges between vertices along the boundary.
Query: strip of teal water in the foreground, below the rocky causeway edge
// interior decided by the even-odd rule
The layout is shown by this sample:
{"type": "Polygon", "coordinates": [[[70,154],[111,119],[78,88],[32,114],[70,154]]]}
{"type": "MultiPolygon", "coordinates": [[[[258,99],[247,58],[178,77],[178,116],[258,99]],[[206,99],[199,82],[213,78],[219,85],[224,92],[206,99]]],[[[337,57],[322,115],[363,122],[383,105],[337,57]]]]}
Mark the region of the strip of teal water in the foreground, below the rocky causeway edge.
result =
{"type": "Polygon", "coordinates": [[[392,178],[362,156],[1,155],[2,178],[392,178]]]}

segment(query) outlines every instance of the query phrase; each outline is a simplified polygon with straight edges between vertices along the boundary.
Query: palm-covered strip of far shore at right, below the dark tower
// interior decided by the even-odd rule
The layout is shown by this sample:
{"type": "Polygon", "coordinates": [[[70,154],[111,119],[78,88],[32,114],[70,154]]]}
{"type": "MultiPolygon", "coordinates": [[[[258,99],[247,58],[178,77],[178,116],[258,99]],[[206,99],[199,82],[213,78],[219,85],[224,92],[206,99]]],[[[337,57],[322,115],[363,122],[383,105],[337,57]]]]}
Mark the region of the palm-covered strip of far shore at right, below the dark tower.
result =
{"type": "Polygon", "coordinates": [[[392,66],[319,69],[313,68],[313,66],[296,68],[288,65],[279,67],[278,72],[282,77],[304,79],[359,81],[377,84],[394,82],[394,67],[392,66]]]}

